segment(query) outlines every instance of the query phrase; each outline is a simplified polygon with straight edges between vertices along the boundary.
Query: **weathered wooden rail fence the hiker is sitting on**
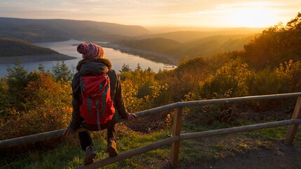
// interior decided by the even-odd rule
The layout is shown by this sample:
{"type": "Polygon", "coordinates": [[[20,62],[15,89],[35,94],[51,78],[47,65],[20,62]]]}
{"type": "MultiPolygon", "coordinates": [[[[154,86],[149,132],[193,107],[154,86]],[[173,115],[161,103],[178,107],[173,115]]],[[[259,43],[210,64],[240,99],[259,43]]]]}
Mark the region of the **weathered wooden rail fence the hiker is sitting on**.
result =
{"type": "MultiPolygon", "coordinates": [[[[101,161],[96,161],[88,166],[79,166],[77,168],[100,168],[103,166],[107,166],[111,163],[116,163],[123,159],[128,159],[132,156],[137,156],[139,154],[149,152],[153,149],[164,147],[166,145],[172,145],[171,163],[172,166],[177,166],[179,164],[179,143],[181,140],[206,138],[214,135],[225,135],[231,133],[255,131],[263,128],[272,128],[276,126],[289,126],[288,132],[286,134],[285,142],[288,145],[293,145],[293,140],[295,138],[295,134],[297,133],[298,125],[301,123],[301,92],[290,93],[290,94],[273,94],[273,95],[264,95],[264,96],[246,96],[246,97],[238,97],[238,98],[221,98],[221,99],[212,99],[212,100],[203,100],[203,101],[178,102],[169,105],[163,105],[158,108],[152,108],[149,110],[137,112],[136,115],[137,117],[144,117],[146,115],[150,115],[153,113],[170,111],[170,110],[174,110],[174,126],[172,131],[173,133],[172,137],[165,138],[164,140],[160,140],[158,142],[153,142],[152,144],[146,145],[144,147],[139,147],[137,149],[132,149],[130,151],[123,152],[115,157],[110,157],[110,158],[103,159],[101,161]],[[183,108],[186,106],[208,105],[208,104],[216,104],[216,103],[233,103],[238,101],[259,101],[264,99],[279,99],[279,98],[293,98],[293,97],[297,97],[297,103],[295,105],[292,118],[288,120],[181,134],[181,126],[183,123],[182,112],[183,112],[183,108]]],[[[65,130],[66,128],[63,128],[57,131],[49,131],[45,133],[27,135],[20,138],[0,140],[0,149],[13,147],[16,145],[24,145],[32,142],[41,141],[41,140],[48,140],[50,138],[59,138],[62,137],[62,133],[64,133],[65,130]]],[[[78,131],[84,131],[84,130],[85,128],[80,128],[78,131]]]]}

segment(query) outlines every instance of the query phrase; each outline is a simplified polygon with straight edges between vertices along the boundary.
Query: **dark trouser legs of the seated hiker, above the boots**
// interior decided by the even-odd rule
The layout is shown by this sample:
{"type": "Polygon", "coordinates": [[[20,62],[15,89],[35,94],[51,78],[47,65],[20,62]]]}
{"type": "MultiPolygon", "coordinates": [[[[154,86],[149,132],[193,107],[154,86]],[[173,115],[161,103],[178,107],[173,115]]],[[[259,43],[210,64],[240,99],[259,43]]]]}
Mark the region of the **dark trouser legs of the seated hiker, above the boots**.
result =
{"type": "MultiPolygon", "coordinates": [[[[78,138],[80,140],[80,146],[84,151],[88,146],[93,145],[90,131],[83,131],[78,133],[78,138]]],[[[117,140],[116,124],[114,124],[113,127],[106,129],[106,139],[108,142],[110,142],[111,140],[117,140]]]]}

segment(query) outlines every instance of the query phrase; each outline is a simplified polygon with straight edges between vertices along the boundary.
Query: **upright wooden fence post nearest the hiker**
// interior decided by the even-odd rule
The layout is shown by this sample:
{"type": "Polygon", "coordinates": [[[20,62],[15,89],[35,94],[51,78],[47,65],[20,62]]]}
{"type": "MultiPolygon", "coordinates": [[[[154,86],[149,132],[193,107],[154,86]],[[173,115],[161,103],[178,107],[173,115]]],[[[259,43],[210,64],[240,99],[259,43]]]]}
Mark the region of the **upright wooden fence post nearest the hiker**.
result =
{"type": "MultiPolygon", "coordinates": [[[[183,123],[182,119],[183,108],[174,109],[174,126],[172,131],[172,136],[179,136],[181,134],[181,127],[183,123]]],[[[179,165],[179,150],[180,150],[180,140],[172,143],[172,166],[179,165]]]]}

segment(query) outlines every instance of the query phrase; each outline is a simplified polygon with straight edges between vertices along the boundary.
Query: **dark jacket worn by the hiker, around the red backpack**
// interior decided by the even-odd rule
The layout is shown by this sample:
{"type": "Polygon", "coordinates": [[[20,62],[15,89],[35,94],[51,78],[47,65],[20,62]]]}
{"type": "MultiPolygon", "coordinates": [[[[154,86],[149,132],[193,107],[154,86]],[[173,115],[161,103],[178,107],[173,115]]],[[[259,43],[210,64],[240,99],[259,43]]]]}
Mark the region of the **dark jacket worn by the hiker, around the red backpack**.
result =
{"type": "Polygon", "coordinates": [[[121,90],[120,78],[116,71],[111,69],[111,61],[109,59],[94,59],[91,61],[81,60],[76,66],[76,71],[78,71],[72,79],[72,119],[70,128],[73,130],[78,129],[80,126],[87,128],[90,131],[97,131],[97,125],[86,124],[84,119],[80,117],[80,105],[83,103],[81,98],[80,90],[80,77],[86,75],[102,75],[102,73],[107,73],[110,78],[111,87],[111,99],[114,103],[114,108],[116,108],[116,113],[108,124],[102,125],[101,128],[108,128],[118,122],[121,118],[127,118],[129,112],[125,108],[125,103],[123,101],[123,93],[121,90]]]}

